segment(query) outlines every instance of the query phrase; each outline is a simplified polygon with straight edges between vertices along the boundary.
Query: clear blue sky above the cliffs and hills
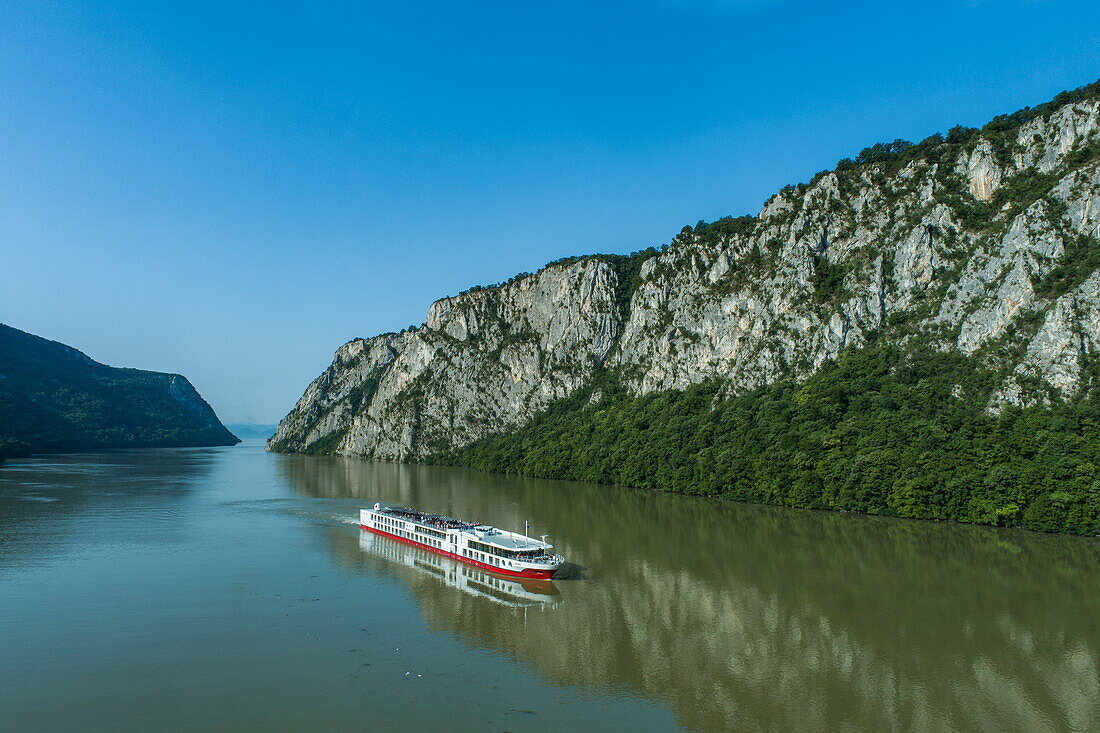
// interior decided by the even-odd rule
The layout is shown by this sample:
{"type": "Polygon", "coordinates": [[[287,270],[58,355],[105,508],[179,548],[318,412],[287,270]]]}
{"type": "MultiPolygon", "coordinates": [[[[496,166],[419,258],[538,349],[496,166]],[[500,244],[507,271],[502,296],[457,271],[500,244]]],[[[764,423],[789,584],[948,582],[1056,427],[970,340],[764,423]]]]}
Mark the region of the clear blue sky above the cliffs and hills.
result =
{"type": "Polygon", "coordinates": [[[0,6],[0,321],[275,422],[356,336],[1100,77],[1096,0],[0,6]]]}

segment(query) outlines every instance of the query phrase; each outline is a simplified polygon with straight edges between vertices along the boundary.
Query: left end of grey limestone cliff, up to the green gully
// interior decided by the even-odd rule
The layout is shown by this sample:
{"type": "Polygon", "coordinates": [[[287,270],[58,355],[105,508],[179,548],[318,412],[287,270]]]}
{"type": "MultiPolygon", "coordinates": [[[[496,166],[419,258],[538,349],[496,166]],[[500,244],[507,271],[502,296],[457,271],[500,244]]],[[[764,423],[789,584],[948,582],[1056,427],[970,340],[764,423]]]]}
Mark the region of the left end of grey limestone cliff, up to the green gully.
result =
{"type": "Polygon", "coordinates": [[[435,303],[415,331],[337,351],[271,445],[404,459],[518,425],[586,384],[620,327],[614,270],[553,265],[435,303]]]}

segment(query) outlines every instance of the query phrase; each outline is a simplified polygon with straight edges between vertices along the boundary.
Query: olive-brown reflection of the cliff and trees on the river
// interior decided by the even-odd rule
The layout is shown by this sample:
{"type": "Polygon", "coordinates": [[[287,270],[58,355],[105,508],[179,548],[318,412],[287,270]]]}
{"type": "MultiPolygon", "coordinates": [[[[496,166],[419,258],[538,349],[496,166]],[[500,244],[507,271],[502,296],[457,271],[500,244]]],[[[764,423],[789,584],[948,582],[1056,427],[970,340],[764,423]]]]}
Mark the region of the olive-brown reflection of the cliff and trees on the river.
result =
{"type": "MultiPolygon", "coordinates": [[[[409,581],[428,622],[694,730],[1100,727],[1094,540],[473,471],[277,457],[306,496],[532,522],[583,580],[517,616],[409,581]]],[[[338,554],[361,555],[346,530],[338,554]]]]}

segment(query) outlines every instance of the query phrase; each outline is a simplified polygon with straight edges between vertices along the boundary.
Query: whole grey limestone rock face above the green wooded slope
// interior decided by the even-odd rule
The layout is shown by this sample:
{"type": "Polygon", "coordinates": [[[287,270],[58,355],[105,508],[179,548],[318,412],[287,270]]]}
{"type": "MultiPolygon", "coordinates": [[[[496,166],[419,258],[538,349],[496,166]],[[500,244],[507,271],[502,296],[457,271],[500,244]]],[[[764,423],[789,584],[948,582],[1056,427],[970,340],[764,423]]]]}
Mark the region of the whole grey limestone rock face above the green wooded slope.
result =
{"type": "Polygon", "coordinates": [[[1093,96],[849,162],[634,260],[439,300],[418,329],[341,347],[270,446],[418,458],[518,427],[600,372],[635,394],[737,394],[883,333],[994,363],[991,411],[1070,396],[1100,344],[1098,238],[1093,96]]]}

